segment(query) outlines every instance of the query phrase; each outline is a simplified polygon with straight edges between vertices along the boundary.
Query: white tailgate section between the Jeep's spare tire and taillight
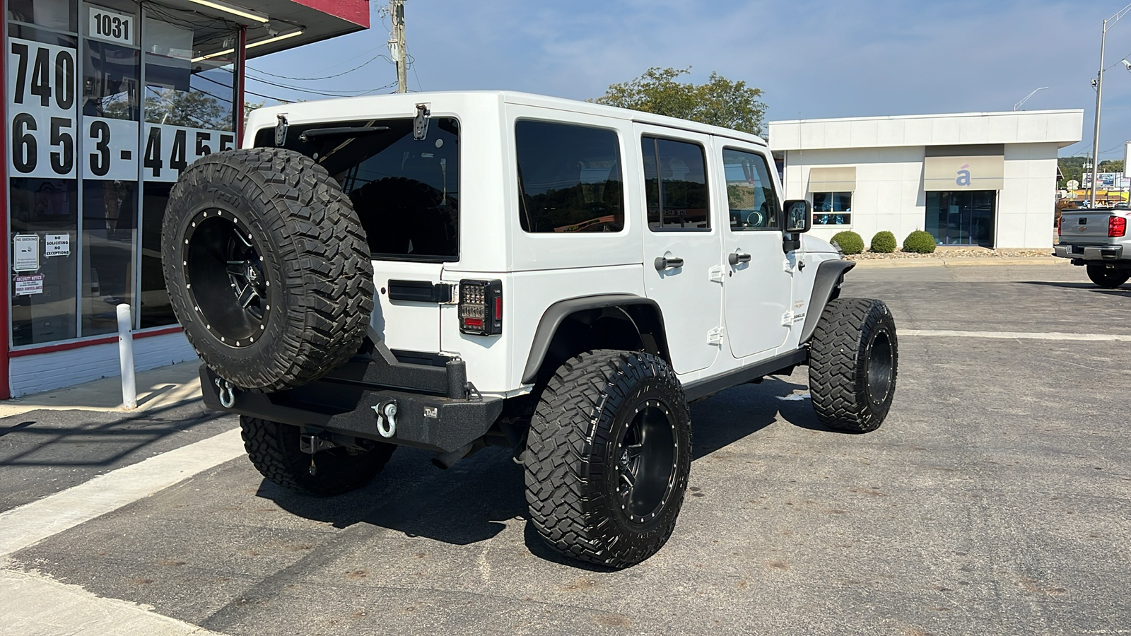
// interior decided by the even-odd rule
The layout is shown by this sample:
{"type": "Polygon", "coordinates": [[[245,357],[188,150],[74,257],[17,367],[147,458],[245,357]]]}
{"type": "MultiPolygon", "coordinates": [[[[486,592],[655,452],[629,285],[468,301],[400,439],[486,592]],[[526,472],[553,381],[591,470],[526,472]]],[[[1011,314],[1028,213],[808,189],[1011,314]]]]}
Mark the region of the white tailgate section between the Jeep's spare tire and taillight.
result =
{"type": "Polygon", "coordinates": [[[389,349],[405,352],[440,351],[440,263],[373,261],[373,328],[389,349]]]}

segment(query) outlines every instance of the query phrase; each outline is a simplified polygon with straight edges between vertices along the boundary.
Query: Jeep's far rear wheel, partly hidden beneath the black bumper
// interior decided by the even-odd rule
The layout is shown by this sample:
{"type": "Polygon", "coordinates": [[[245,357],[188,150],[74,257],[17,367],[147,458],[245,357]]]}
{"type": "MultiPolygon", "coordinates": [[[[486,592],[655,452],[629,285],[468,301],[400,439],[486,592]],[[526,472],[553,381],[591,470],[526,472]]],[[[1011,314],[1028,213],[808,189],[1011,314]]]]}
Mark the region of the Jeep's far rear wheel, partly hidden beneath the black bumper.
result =
{"type": "Polygon", "coordinates": [[[392,444],[360,440],[372,447],[331,448],[310,455],[299,448],[299,427],[241,415],[240,428],[243,447],[260,474],[283,488],[318,497],[340,495],[373,481],[397,448],[392,444]],[[310,474],[311,458],[314,474],[310,474]]]}

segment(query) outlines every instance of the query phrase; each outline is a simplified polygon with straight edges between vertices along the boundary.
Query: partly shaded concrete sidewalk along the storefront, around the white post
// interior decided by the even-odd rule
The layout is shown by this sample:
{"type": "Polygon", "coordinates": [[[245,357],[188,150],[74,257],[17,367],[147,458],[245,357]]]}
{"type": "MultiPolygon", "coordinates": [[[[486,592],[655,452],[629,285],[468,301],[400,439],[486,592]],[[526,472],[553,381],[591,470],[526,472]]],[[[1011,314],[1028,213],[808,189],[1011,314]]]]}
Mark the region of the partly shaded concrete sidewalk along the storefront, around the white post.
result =
{"type": "MultiPolygon", "coordinates": [[[[137,373],[138,406],[130,413],[175,406],[200,399],[200,362],[191,360],[137,373]]],[[[114,376],[46,393],[24,395],[0,402],[0,418],[28,411],[98,411],[124,413],[122,380],[114,376]]]]}

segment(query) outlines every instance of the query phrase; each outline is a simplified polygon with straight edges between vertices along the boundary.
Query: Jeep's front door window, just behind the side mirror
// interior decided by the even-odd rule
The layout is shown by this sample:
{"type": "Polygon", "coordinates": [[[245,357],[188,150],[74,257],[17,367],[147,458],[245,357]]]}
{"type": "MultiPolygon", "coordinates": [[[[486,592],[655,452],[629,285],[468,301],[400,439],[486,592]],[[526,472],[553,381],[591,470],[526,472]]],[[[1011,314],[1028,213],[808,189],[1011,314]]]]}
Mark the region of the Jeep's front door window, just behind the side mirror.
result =
{"type": "Polygon", "coordinates": [[[731,210],[731,230],[768,230],[777,227],[780,205],[774,192],[766,157],[758,153],[723,151],[726,173],[726,200],[731,210]]]}

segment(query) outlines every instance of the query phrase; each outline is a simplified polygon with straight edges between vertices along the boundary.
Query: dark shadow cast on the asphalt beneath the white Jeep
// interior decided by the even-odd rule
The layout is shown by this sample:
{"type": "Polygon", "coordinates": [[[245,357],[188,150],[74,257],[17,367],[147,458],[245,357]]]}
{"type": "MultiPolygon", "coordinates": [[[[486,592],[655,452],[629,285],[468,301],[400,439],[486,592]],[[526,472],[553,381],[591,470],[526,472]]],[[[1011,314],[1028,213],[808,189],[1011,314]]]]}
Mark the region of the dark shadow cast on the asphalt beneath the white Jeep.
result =
{"type": "MultiPolygon", "coordinates": [[[[779,399],[806,390],[805,385],[768,378],[720,392],[691,407],[692,461],[754,435],[780,415],[793,426],[821,429],[808,398],[779,399]]],[[[267,480],[257,497],[303,518],[338,528],[355,524],[386,528],[455,545],[494,539],[521,523],[523,540],[539,559],[590,571],[604,566],[564,557],[542,540],[529,522],[521,466],[507,448],[487,448],[447,471],[431,465],[431,453],[399,448],[370,485],[333,498],[313,498],[267,480]]]]}

